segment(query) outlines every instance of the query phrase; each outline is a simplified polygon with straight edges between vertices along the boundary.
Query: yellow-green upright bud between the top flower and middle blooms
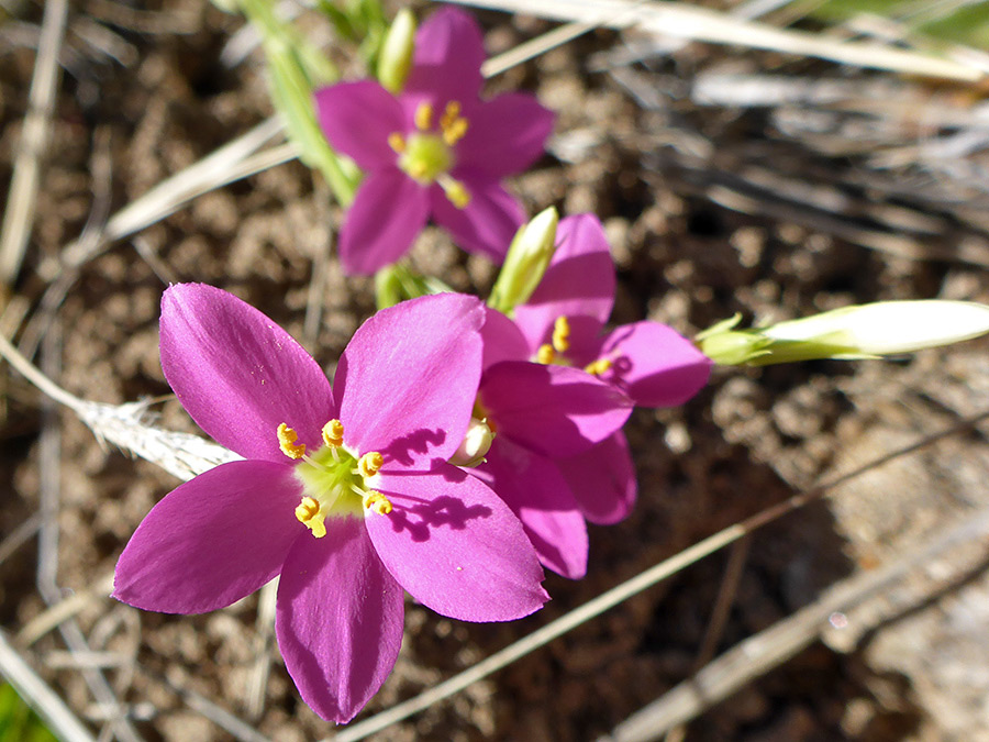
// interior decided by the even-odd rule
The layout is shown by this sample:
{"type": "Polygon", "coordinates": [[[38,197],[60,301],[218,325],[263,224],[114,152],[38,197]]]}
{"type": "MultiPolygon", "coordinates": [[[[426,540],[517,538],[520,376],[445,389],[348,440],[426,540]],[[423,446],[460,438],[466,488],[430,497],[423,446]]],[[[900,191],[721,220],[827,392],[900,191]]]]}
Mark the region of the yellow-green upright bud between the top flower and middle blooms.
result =
{"type": "Polygon", "coordinates": [[[489,307],[511,317],[515,307],[529,301],[553,259],[558,223],[559,214],[549,207],[519,228],[491,289],[489,307]]]}

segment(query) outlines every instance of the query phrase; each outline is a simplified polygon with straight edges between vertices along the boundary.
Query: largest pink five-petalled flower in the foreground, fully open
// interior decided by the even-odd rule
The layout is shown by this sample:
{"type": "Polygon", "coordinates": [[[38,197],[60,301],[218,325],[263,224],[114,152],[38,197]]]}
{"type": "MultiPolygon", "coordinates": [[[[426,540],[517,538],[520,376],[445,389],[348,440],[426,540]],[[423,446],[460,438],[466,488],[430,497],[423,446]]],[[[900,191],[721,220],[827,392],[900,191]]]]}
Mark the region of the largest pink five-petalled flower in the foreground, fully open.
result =
{"type": "Polygon", "coordinates": [[[340,358],[335,391],[308,353],[225,291],[162,300],[162,367],[182,406],[246,461],[169,492],[116,565],[114,597],[200,613],[281,575],[286,667],[320,716],[352,719],[395,664],[403,590],[467,621],[546,600],[515,517],[446,461],[470,418],[481,304],[425,297],[378,312],[340,358]]]}

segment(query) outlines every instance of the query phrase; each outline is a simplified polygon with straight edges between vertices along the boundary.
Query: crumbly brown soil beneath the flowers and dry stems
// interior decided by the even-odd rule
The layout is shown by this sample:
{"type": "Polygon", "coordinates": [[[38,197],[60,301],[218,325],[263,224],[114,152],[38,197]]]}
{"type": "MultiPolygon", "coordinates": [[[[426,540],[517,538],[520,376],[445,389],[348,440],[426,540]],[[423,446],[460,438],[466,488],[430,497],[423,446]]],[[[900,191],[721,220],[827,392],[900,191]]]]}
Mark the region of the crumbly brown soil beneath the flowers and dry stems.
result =
{"type": "MultiPolygon", "coordinates": [[[[41,13],[40,4],[24,2],[16,19],[37,24],[41,13]]],[[[479,18],[491,54],[551,27],[523,16],[479,18]]],[[[95,210],[97,219],[107,206],[115,212],[271,114],[260,54],[232,67],[221,60],[242,25],[197,0],[74,4],[35,226],[11,306],[23,300],[29,318],[35,315],[58,273],[53,266],[60,251],[95,210]],[[112,34],[111,46],[92,45],[93,24],[112,34]]],[[[781,109],[704,106],[689,90],[707,71],[734,68],[801,79],[843,76],[863,86],[880,80],[932,106],[976,96],[955,103],[970,107],[976,93],[700,45],[620,64],[619,53],[641,41],[594,31],[490,84],[491,92],[532,90],[557,111],[551,152],[512,186],[533,212],[555,204],[563,213],[592,211],[604,222],[619,274],[613,322],[649,318],[689,335],[735,312],[767,321],[888,299],[989,303],[985,265],[951,250],[987,239],[962,208],[978,209],[985,193],[977,188],[938,181],[930,170],[879,168],[870,157],[882,143],[835,153],[805,129],[781,128],[781,109]],[[798,208],[799,198],[787,189],[744,208],[740,193],[752,199],[758,168],[777,186],[838,192],[863,210],[822,222],[820,209],[798,208]],[[890,186],[918,177],[936,187],[894,192],[890,186]],[[884,252],[875,240],[834,226],[899,234],[891,222],[876,221],[879,208],[914,221],[927,218],[934,226],[922,242],[943,247],[935,259],[884,252]]],[[[345,43],[334,47],[342,59],[353,53],[345,43]]],[[[10,182],[34,56],[30,44],[14,42],[0,55],[2,184],[10,182]]],[[[852,119],[838,123],[848,126],[852,119]]],[[[855,141],[841,128],[830,133],[855,141]]],[[[900,143],[937,134],[901,132],[900,143]]],[[[166,281],[195,280],[266,312],[332,374],[351,333],[374,310],[370,281],[345,278],[331,261],[316,287],[318,332],[303,333],[313,261],[330,248],[338,223],[319,176],[298,162],[197,198],[80,268],[36,359],[88,400],[168,395],[157,359],[158,300],[166,281]]],[[[481,296],[494,276],[492,266],[456,251],[432,229],[411,259],[481,296]]],[[[396,671],[364,715],[416,695],[720,529],[987,408],[987,350],[989,343],[975,341],[891,362],[719,369],[682,408],[636,411],[626,433],[640,502],[624,522],[591,528],[587,578],[548,575],[552,602],[510,624],[460,623],[410,602],[396,671]]],[[[112,572],[137,523],[176,480],[101,447],[71,412],[53,420],[20,377],[9,375],[2,384],[0,476],[9,486],[0,495],[0,535],[38,511],[42,483],[54,479],[57,585],[65,596],[82,591],[112,572]],[[54,457],[45,451],[52,443],[42,441],[45,429],[57,431],[54,457]]],[[[155,409],[165,427],[195,432],[174,400],[155,409]]],[[[989,505],[987,432],[982,425],[899,458],[756,532],[718,650],[989,505]]],[[[0,563],[0,627],[11,634],[46,608],[35,586],[45,549],[51,545],[34,538],[0,563]]],[[[697,669],[726,563],[727,552],[721,552],[684,569],[376,739],[580,741],[608,733],[697,669]]],[[[924,575],[914,577],[923,582],[924,575]]],[[[929,587],[945,579],[926,577],[929,587]]],[[[812,642],[705,710],[685,739],[989,739],[982,724],[989,718],[982,716],[989,713],[989,663],[980,641],[989,619],[987,580],[976,569],[960,587],[923,594],[930,599],[905,619],[889,620],[851,646],[812,642]]],[[[182,691],[201,695],[273,740],[326,737],[332,726],[301,702],[277,649],[269,650],[263,706],[252,713],[246,699],[258,653],[258,605],[254,596],[212,614],[174,617],[95,598],[77,621],[91,650],[126,657],[107,676],[147,740],[230,739],[182,691]]],[[[63,636],[51,632],[22,649],[70,708],[100,729],[100,709],[82,674],[58,662],[63,636]]]]}

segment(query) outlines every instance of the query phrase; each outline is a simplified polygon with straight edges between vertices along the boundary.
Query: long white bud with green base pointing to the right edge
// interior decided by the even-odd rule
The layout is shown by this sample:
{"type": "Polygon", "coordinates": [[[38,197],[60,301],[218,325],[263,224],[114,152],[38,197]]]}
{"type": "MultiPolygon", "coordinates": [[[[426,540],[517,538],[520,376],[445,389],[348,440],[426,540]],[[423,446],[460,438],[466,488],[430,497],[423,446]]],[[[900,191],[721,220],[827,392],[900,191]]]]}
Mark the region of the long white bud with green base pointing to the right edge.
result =
{"type": "Polygon", "coordinates": [[[722,328],[699,336],[701,350],[720,364],[764,366],[813,358],[869,358],[949,345],[989,333],[989,306],[971,301],[880,301],[769,328],[722,328]]]}

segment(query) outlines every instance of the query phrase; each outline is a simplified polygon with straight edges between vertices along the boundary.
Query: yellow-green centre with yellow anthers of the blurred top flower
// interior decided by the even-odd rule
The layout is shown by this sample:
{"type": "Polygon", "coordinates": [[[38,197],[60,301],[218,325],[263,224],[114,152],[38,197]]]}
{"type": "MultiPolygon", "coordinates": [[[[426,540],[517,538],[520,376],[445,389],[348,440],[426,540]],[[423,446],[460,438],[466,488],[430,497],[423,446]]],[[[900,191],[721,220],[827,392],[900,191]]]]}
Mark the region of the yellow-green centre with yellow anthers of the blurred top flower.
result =
{"type": "Polygon", "coordinates": [[[467,133],[469,122],[460,115],[460,103],[452,100],[438,121],[433,121],[433,107],[420,103],[415,109],[415,131],[407,136],[399,132],[388,135],[388,146],[399,155],[398,166],[421,186],[436,182],[457,209],[470,203],[470,193],[463,182],[449,176],[454,166],[453,147],[467,133]],[[435,125],[434,125],[435,124],[435,125]]]}

